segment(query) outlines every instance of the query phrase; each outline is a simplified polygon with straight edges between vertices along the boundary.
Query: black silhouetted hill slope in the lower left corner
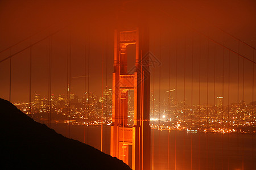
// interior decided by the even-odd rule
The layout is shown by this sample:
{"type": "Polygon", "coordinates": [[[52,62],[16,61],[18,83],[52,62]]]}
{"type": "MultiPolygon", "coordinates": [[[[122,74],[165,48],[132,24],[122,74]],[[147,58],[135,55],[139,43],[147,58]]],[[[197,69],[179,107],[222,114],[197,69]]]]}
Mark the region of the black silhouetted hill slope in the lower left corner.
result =
{"type": "Polygon", "coordinates": [[[0,99],[1,169],[130,169],[117,158],[57,134],[0,99]]]}

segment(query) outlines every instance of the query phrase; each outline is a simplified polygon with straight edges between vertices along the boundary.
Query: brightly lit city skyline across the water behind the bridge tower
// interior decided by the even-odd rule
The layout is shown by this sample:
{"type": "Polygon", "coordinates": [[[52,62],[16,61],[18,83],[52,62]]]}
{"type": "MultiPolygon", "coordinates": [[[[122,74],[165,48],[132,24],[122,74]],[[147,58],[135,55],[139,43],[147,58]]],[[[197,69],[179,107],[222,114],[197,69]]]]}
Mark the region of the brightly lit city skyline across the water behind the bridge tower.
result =
{"type": "MultiPolygon", "coordinates": [[[[51,100],[35,95],[31,103],[15,103],[22,112],[35,121],[44,124],[104,125],[112,124],[112,89],[105,89],[98,97],[85,92],[79,99],[75,94],[51,95],[51,100]]],[[[151,128],[161,130],[212,131],[220,133],[255,133],[256,103],[244,101],[223,105],[222,97],[217,97],[216,105],[187,105],[184,101],[157,101],[150,99],[151,128]]],[[[133,126],[133,93],[128,98],[128,125],[133,126]]]]}

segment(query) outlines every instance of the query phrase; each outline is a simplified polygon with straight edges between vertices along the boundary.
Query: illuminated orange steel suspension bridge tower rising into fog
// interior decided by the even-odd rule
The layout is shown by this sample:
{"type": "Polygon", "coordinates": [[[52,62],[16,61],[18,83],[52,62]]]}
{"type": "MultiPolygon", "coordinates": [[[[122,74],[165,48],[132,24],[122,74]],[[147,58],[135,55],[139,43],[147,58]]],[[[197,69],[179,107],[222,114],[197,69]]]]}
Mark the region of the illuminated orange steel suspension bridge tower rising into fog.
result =
{"type": "Polygon", "coordinates": [[[150,169],[148,29],[115,30],[110,154],[135,170],[150,169]],[[136,45],[135,71],[127,73],[127,45],[136,45]],[[134,126],[127,125],[127,91],[134,90],[134,126]],[[129,149],[130,148],[130,149],[129,149]]]}

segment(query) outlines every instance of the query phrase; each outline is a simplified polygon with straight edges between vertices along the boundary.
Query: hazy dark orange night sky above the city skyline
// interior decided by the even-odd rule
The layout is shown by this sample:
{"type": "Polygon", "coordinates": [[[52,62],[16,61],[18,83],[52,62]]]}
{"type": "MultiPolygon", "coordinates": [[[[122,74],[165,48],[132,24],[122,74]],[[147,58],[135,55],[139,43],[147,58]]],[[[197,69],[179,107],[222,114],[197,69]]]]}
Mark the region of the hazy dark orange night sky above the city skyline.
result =
{"type": "MultiPolygon", "coordinates": [[[[34,35],[2,52],[0,60],[60,29],[51,39],[52,94],[67,94],[68,40],[71,37],[71,92],[82,97],[84,91],[88,91],[89,79],[89,91],[101,96],[102,84],[104,88],[106,85],[112,88],[118,2],[122,1],[0,1],[0,51],[34,35]]],[[[133,23],[137,17],[136,3],[123,3],[122,11],[130,16],[124,18],[127,23],[133,23]]],[[[252,62],[207,38],[253,60],[255,50],[220,29],[255,48],[255,1],[149,1],[147,9],[150,52],[160,63],[151,67],[151,90],[154,89],[156,98],[161,94],[161,100],[167,100],[166,91],[175,88],[172,95],[177,92],[177,100],[184,100],[185,92],[188,104],[191,101],[198,104],[200,83],[201,104],[207,102],[207,84],[210,104],[217,96],[223,96],[227,104],[228,94],[230,103],[242,99],[250,103],[253,95],[256,99],[255,64],[253,77],[252,62]]],[[[11,58],[12,102],[29,100],[30,53],[32,99],[35,94],[48,97],[49,43],[47,38],[11,58]]],[[[134,54],[135,46],[131,45],[129,69],[133,67],[134,54]]],[[[10,59],[0,63],[0,97],[7,100],[9,66],[10,59]]]]}

